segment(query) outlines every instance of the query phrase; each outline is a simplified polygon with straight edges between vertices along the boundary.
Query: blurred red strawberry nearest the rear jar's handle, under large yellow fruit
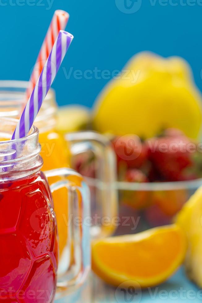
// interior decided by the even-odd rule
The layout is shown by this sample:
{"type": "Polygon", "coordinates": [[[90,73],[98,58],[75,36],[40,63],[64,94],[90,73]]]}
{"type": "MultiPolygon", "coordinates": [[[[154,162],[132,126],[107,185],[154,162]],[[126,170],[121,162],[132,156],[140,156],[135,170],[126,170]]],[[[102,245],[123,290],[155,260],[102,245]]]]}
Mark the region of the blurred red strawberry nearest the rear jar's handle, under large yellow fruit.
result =
{"type": "Polygon", "coordinates": [[[118,165],[126,164],[128,168],[140,168],[148,157],[148,146],[135,134],[117,137],[113,140],[118,165]]]}

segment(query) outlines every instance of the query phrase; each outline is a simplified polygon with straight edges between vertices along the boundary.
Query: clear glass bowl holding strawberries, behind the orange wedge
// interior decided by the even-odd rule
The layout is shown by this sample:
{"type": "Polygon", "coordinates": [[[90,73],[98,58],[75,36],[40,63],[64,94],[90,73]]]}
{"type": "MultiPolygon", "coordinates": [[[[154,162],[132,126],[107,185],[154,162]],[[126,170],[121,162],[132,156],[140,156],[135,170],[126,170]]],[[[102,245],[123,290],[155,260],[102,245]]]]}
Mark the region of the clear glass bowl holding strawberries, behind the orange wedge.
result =
{"type": "MultiPolygon", "coordinates": [[[[113,226],[111,234],[123,235],[139,233],[149,228],[171,224],[183,204],[202,186],[202,178],[192,181],[132,183],[117,181],[103,184],[97,179],[86,177],[91,193],[101,192],[110,187],[118,193],[118,213],[116,216],[96,218],[94,226],[113,226]]],[[[92,199],[93,201],[93,199],[92,199]]],[[[110,204],[110,201],[108,201],[110,204]]],[[[100,212],[99,212],[100,214],[100,212]]],[[[110,233],[108,232],[108,235],[110,233]]]]}

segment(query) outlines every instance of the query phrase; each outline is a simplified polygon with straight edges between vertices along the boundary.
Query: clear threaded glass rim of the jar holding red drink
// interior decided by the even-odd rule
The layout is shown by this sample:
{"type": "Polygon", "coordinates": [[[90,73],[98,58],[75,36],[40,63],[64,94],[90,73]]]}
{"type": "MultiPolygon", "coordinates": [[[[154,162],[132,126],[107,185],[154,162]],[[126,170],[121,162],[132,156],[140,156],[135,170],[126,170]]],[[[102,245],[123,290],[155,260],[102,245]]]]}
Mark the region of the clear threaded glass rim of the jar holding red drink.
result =
{"type": "Polygon", "coordinates": [[[18,121],[0,117],[0,182],[27,177],[39,171],[43,164],[39,130],[35,126],[23,138],[7,139],[11,138],[18,121]]]}

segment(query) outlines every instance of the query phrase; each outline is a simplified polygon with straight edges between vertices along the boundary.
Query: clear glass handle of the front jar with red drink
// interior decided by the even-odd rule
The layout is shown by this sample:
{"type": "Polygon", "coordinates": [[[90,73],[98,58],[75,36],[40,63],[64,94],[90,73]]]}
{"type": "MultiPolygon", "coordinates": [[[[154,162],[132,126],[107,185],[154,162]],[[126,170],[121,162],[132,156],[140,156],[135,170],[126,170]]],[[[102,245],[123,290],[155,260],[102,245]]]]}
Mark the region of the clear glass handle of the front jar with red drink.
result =
{"type": "MultiPolygon", "coordinates": [[[[45,176],[61,177],[50,185],[51,192],[63,187],[68,192],[68,216],[72,216],[68,228],[69,267],[65,273],[58,275],[56,298],[79,287],[86,280],[91,267],[90,232],[90,195],[82,176],[73,169],[61,168],[45,171],[45,176]],[[75,221],[76,218],[76,221],[75,221]],[[86,222],[86,223],[85,223],[86,222]]],[[[68,218],[69,219],[69,218],[68,218]]],[[[68,261],[67,261],[68,262],[68,261]]],[[[60,266],[60,262],[59,262],[60,266]]]]}

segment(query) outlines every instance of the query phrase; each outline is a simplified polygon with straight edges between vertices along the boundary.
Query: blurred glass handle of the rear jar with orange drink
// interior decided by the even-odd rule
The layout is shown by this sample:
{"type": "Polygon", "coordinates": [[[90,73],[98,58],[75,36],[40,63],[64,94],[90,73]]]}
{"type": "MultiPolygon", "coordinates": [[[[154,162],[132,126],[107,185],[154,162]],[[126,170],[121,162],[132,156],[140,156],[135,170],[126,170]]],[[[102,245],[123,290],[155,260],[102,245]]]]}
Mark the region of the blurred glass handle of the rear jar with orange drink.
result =
{"type": "Polygon", "coordinates": [[[114,186],[117,181],[116,156],[110,140],[95,131],[80,131],[65,134],[70,143],[71,155],[91,151],[98,160],[97,182],[86,178],[88,185],[97,187],[96,203],[101,207],[101,217],[110,219],[110,227],[91,228],[92,237],[105,237],[114,232],[113,220],[118,216],[118,192],[114,186]]]}

